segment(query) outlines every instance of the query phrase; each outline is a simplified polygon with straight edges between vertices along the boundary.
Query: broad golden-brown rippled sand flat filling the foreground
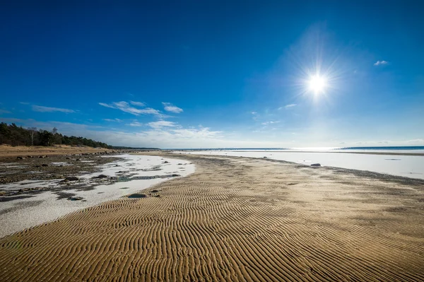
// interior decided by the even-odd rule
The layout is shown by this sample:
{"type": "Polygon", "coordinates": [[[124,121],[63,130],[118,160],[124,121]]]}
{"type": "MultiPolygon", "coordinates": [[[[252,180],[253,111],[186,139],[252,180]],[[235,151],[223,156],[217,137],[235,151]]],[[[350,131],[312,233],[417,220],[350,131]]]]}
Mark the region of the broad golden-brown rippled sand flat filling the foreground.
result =
{"type": "Polygon", "coordinates": [[[424,280],[423,182],[177,157],[196,172],[151,187],[152,196],[4,237],[1,280],[424,280]]]}

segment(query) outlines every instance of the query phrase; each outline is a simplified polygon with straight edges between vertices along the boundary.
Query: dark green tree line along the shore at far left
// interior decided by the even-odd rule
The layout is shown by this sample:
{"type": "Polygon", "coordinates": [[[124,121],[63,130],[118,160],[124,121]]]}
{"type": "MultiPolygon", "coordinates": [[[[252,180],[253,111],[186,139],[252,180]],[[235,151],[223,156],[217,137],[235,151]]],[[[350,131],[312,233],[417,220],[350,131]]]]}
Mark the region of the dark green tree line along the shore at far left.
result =
{"type": "Polygon", "coordinates": [[[16,124],[0,123],[0,144],[11,146],[52,146],[52,145],[83,145],[94,148],[112,148],[107,143],[86,139],[83,137],[59,134],[57,128],[51,131],[36,127],[18,127],[16,124]]]}

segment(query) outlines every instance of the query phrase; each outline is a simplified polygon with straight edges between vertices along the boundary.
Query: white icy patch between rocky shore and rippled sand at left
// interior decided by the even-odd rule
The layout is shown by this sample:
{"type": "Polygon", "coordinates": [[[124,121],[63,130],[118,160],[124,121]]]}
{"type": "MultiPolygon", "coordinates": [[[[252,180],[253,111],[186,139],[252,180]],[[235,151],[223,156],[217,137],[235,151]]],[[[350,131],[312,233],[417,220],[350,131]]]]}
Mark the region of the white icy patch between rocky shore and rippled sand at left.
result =
{"type": "MultiPolygon", "coordinates": [[[[110,157],[110,156],[108,156],[110,157]]],[[[82,197],[85,201],[69,201],[66,199],[57,199],[57,192],[45,191],[40,194],[19,194],[18,196],[30,196],[25,199],[15,199],[12,201],[0,202],[0,237],[10,235],[19,230],[30,228],[34,225],[53,221],[67,213],[77,211],[81,208],[95,206],[103,201],[117,199],[120,196],[139,192],[150,187],[153,184],[171,180],[175,177],[152,178],[148,180],[131,180],[134,177],[154,177],[156,175],[169,175],[172,173],[187,176],[194,172],[195,167],[186,160],[175,160],[161,158],[152,155],[116,155],[124,160],[117,160],[113,163],[100,165],[100,172],[90,173],[86,175],[76,175],[80,181],[76,182],[79,189],[81,185],[90,186],[92,177],[98,175],[108,175],[110,177],[127,177],[129,181],[114,182],[113,184],[98,184],[95,189],[88,191],[78,191],[78,187],[73,189],[64,189],[61,192],[75,194],[82,197]],[[164,163],[167,161],[168,163],[164,163]],[[183,165],[178,165],[182,163],[183,165]],[[117,166],[118,165],[118,166],[117,166]],[[159,170],[160,169],[160,170],[159,170]]],[[[59,183],[60,180],[24,180],[11,184],[5,184],[0,187],[4,190],[23,189],[31,187],[60,187],[66,185],[59,183]]],[[[69,182],[70,185],[73,182],[69,182]]]]}

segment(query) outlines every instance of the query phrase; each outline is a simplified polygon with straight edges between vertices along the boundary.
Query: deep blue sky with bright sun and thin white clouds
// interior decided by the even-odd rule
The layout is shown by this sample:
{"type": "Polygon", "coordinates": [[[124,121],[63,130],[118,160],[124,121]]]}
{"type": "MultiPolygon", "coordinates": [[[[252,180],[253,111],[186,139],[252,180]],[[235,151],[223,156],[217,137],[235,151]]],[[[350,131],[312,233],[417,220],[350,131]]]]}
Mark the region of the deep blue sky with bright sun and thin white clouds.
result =
{"type": "Polygon", "coordinates": [[[0,122],[114,146],[423,146],[423,13],[423,1],[8,1],[0,122]]]}

